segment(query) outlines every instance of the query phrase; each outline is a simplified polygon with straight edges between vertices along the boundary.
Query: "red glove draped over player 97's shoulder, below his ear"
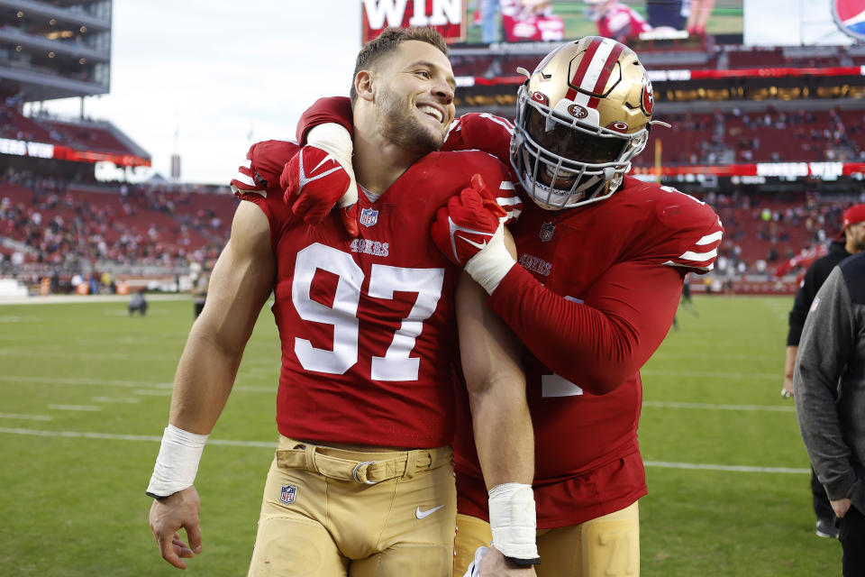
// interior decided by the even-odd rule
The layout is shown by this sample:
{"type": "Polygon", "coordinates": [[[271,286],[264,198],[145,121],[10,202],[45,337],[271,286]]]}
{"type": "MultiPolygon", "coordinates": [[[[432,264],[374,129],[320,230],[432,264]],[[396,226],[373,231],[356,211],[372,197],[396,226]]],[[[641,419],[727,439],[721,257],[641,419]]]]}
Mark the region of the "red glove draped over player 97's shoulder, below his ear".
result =
{"type": "Polygon", "coordinates": [[[329,152],[307,144],[282,169],[279,186],[291,212],[306,224],[318,224],[339,202],[342,224],[359,234],[355,208],[358,188],[351,173],[329,152]]]}

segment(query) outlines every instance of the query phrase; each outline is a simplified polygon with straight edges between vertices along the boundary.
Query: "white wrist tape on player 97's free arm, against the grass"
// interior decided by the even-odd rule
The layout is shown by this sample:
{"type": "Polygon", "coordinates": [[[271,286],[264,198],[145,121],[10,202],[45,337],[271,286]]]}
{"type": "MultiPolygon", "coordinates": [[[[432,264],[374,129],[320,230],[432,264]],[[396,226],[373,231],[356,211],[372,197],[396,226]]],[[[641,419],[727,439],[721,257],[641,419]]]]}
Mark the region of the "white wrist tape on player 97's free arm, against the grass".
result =
{"type": "Polygon", "coordinates": [[[189,433],[170,424],[165,427],[147,494],[159,499],[192,487],[206,441],[207,435],[189,433]]]}

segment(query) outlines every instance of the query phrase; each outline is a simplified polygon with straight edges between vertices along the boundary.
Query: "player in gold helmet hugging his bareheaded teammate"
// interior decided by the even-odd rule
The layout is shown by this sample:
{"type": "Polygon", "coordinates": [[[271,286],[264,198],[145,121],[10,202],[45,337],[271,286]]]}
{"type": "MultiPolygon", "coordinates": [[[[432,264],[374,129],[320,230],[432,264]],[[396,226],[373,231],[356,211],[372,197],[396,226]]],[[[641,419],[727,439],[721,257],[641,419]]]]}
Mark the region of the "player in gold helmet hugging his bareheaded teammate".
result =
{"type": "MultiPolygon", "coordinates": [[[[543,560],[537,574],[634,575],[637,501],[646,494],[639,370],[669,331],[685,274],[712,270],[723,228],[696,198],[626,176],[657,123],[651,83],[632,50],[587,37],[525,74],[515,125],[466,114],[451,125],[443,150],[509,160],[523,197],[533,201],[511,226],[521,266],[493,243],[469,263],[484,271],[478,280],[488,306],[527,349],[543,560]]],[[[348,114],[343,99],[322,99],[298,131],[347,126],[348,114]]],[[[449,232],[472,204],[463,191],[442,208],[432,229],[442,252],[451,253],[449,232]]],[[[463,408],[454,444],[457,573],[490,539],[468,418],[463,408]]]]}

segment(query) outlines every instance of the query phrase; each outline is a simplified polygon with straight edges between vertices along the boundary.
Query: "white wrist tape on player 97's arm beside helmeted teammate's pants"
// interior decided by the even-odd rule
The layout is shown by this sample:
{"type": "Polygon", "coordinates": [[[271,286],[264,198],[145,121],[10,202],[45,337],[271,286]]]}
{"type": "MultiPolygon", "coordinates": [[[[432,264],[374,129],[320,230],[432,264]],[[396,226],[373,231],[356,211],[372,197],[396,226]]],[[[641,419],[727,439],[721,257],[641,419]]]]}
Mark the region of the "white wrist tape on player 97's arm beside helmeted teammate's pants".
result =
{"type": "Polygon", "coordinates": [[[489,490],[493,545],[518,564],[540,563],[532,485],[504,483],[489,490]]]}

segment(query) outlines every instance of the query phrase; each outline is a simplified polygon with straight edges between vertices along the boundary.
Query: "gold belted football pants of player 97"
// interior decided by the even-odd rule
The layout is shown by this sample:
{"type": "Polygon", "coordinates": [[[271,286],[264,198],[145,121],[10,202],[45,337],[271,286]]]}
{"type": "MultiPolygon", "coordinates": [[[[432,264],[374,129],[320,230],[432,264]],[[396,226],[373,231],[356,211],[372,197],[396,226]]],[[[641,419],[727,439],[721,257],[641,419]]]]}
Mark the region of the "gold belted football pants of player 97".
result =
{"type": "Polygon", "coordinates": [[[450,577],[451,448],[360,453],[280,437],[250,577],[450,577]]]}

